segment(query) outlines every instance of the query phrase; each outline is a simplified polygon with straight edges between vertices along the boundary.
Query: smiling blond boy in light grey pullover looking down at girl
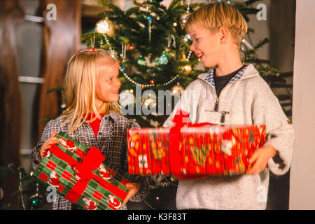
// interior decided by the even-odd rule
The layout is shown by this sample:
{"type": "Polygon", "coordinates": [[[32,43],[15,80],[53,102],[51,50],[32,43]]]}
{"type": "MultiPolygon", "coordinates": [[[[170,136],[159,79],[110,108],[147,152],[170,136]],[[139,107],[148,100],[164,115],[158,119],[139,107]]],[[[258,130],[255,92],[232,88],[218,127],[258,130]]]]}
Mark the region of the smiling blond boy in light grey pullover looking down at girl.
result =
{"type": "Polygon", "coordinates": [[[209,3],[192,13],[186,30],[190,50],[206,67],[186,88],[164,126],[172,126],[179,109],[190,113],[192,123],[265,124],[267,142],[250,158],[252,168],[239,176],[209,176],[180,180],[177,209],[265,209],[269,170],[285,174],[293,154],[294,130],[278,99],[252,64],[239,58],[247,25],[228,3],[209,3]]]}

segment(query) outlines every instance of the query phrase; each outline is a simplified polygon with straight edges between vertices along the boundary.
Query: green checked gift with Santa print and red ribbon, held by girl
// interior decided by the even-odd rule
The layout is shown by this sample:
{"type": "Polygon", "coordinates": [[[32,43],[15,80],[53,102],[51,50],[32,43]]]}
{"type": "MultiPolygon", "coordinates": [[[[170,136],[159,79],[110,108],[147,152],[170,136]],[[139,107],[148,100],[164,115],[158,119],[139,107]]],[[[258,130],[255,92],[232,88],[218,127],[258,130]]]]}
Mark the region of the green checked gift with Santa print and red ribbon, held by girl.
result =
{"type": "Polygon", "coordinates": [[[64,132],[58,144],[34,170],[34,176],[55,186],[67,200],[88,210],[119,209],[129,188],[130,175],[104,161],[99,149],[86,148],[64,132]]]}

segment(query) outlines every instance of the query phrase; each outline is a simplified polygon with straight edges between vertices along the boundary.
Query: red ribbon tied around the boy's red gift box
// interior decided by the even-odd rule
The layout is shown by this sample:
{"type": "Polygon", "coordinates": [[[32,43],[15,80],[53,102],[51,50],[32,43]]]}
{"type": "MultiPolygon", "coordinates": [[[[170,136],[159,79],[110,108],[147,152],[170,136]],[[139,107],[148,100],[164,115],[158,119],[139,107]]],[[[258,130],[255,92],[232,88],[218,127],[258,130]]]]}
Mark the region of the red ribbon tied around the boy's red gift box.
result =
{"type": "Polygon", "coordinates": [[[189,113],[185,111],[177,111],[173,123],[175,125],[169,130],[169,158],[172,159],[170,166],[171,174],[174,174],[179,179],[199,179],[205,176],[190,176],[182,174],[181,171],[181,127],[202,127],[205,125],[214,125],[212,123],[189,123],[189,113]]]}

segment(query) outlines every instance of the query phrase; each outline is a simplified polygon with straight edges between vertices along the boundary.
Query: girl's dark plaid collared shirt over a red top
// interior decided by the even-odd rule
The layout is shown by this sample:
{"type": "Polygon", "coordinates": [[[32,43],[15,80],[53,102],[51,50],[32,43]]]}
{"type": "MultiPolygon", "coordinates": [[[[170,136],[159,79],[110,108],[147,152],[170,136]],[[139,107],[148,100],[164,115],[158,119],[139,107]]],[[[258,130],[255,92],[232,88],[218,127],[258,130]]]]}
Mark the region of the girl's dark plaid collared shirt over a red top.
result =
{"type": "MultiPolygon", "coordinates": [[[[48,122],[45,126],[41,136],[41,141],[38,142],[37,146],[34,147],[31,153],[33,169],[35,169],[41,161],[39,151],[43,143],[50,138],[52,130],[55,130],[57,134],[60,131],[69,134],[69,126],[62,126],[62,123],[63,119],[57,118],[55,120],[50,120],[50,122],[48,122]]],[[[107,116],[103,116],[102,118],[101,124],[99,125],[97,139],[95,139],[92,127],[90,127],[87,122],[83,123],[83,125],[74,130],[74,132],[69,134],[69,136],[76,141],[79,141],[80,144],[83,144],[87,148],[91,148],[92,146],[99,148],[107,161],[118,165],[120,169],[128,172],[127,129],[139,127],[140,126],[137,123],[128,120],[116,112],[110,111],[107,116]]],[[[141,184],[141,188],[139,192],[130,199],[130,201],[140,202],[144,200],[149,193],[150,188],[148,177],[141,175],[132,175],[132,177],[134,178],[133,182],[141,184]]],[[[73,207],[71,202],[62,197],[62,195],[57,194],[56,201],[52,204],[52,209],[71,210],[76,209],[76,206],[73,207]]],[[[127,209],[127,207],[123,206],[121,209],[127,209]]]]}

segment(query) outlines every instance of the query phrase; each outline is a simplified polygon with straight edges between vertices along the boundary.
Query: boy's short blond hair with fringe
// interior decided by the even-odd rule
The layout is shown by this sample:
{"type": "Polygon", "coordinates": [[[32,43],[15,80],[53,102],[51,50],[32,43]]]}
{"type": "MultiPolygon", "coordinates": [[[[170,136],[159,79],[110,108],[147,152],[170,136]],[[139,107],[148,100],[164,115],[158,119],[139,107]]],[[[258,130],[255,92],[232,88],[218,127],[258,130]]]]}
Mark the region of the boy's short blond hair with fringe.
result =
{"type": "Polygon", "coordinates": [[[186,31],[189,33],[195,24],[202,25],[212,32],[225,26],[231,32],[235,43],[240,47],[247,32],[247,23],[239,10],[224,1],[221,3],[209,3],[190,14],[186,22],[186,31]]]}

